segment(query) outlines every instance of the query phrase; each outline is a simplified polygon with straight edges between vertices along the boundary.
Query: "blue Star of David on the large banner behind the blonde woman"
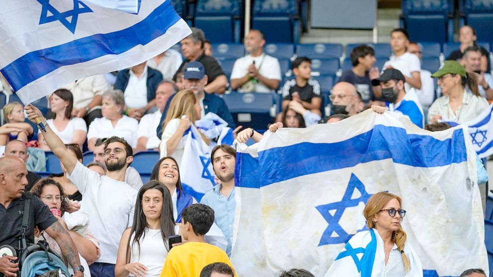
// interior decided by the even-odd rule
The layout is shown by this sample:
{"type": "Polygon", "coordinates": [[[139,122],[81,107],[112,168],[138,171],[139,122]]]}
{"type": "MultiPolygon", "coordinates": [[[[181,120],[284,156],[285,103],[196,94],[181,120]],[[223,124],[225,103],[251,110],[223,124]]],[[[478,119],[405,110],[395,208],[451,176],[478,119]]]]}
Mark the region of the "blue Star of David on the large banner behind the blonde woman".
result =
{"type": "MultiPolygon", "coordinates": [[[[366,204],[366,202],[372,195],[373,194],[369,194],[368,192],[366,192],[365,185],[360,181],[360,179],[358,179],[358,177],[356,177],[354,173],[351,173],[348,187],[346,188],[346,192],[344,193],[343,199],[341,201],[316,206],[315,208],[328,223],[327,228],[325,229],[325,231],[323,231],[318,246],[326,244],[346,243],[354,234],[348,234],[339,224],[344,210],[349,207],[356,207],[360,202],[366,204]],[[361,196],[356,199],[351,199],[351,196],[356,189],[360,191],[361,196]],[[331,210],[336,210],[334,215],[329,212],[331,210]],[[338,235],[337,237],[332,236],[334,232],[338,235]]],[[[364,226],[361,230],[365,229],[366,226],[364,226]]]]}

